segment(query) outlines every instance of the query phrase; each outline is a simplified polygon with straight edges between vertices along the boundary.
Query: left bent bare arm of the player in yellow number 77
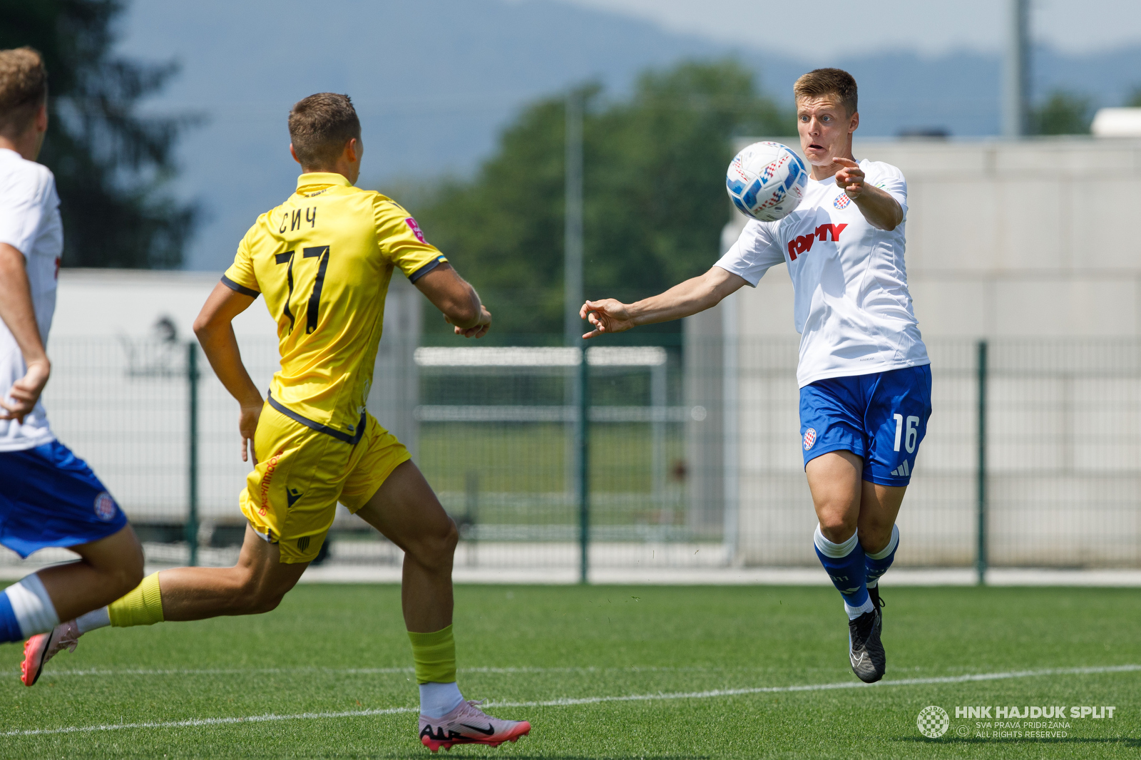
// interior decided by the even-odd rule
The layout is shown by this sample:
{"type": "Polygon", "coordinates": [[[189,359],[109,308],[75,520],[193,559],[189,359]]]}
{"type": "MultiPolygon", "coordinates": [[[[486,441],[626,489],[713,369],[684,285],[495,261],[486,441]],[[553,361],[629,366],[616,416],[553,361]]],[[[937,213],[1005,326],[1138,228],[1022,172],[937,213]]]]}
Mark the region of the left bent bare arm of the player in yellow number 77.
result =
{"type": "Polygon", "coordinates": [[[253,299],[252,296],[238,293],[218,283],[194,321],[194,334],[199,337],[199,343],[210,359],[215,374],[241,406],[237,428],[242,434],[242,461],[249,461],[245,453],[249,444],[251,458],[257,464],[253,434],[261,415],[261,391],[253,385],[250,373],[242,364],[242,353],[237,348],[237,338],[234,337],[234,325],[230,324],[234,317],[249,308],[253,299]]]}

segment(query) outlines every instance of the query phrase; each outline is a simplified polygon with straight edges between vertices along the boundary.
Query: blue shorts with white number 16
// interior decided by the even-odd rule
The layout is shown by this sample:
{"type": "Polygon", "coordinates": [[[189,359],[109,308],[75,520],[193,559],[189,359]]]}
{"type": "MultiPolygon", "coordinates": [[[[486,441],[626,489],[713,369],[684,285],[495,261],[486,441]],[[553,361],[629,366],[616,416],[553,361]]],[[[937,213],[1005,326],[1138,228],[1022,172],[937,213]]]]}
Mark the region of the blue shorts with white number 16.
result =
{"type": "Polygon", "coordinates": [[[817,380],[800,389],[804,464],[830,451],[864,459],[864,479],[911,483],[931,417],[931,365],[817,380]]]}

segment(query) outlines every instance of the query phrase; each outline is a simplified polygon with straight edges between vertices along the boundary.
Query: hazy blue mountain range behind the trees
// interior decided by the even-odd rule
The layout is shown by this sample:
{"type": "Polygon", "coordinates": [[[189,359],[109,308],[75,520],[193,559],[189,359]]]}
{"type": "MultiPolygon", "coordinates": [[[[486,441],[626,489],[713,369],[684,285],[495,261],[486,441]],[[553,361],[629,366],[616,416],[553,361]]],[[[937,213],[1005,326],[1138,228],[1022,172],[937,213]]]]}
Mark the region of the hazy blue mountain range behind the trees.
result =
{"type": "MultiPolygon", "coordinates": [[[[149,107],[208,118],[179,151],[178,189],[208,215],[191,269],[222,269],[257,215],[291,192],[285,115],[315,91],[353,96],[364,122],[363,184],[381,187],[470,172],[531,99],[586,79],[621,94],[644,68],[693,57],[736,55],[782,98],[807,68],[848,67],[860,82],[866,135],[998,127],[997,56],[834,58],[806,47],[794,60],[549,0],[139,1],[123,33],[123,54],[183,64],[149,107]]],[[[1041,51],[1036,60],[1039,87],[1060,83],[1103,104],[1141,80],[1141,47],[1084,58],[1041,51]]]]}

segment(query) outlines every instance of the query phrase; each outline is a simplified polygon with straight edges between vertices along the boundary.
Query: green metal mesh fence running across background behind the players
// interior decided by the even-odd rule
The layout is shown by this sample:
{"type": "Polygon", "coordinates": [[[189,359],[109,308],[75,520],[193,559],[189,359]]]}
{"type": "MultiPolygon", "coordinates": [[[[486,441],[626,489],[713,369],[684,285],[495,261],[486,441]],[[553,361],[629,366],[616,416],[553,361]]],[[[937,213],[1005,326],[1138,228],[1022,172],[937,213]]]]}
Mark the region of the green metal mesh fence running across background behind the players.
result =
{"type": "MultiPolygon", "coordinates": [[[[898,561],[1141,565],[1141,343],[929,348],[934,414],[898,561]]],[[[233,561],[248,466],[236,404],[196,349],[155,338],[49,349],[55,431],[123,506],[148,557],[233,561]]],[[[267,387],[276,343],[242,340],[242,354],[267,387]]],[[[573,348],[421,347],[378,363],[374,394],[410,407],[397,432],[461,527],[459,565],[576,568],[584,551],[598,567],[816,563],[794,340],[586,356],[585,404],[573,348]]],[[[341,509],[331,558],[399,552],[341,509]]]]}

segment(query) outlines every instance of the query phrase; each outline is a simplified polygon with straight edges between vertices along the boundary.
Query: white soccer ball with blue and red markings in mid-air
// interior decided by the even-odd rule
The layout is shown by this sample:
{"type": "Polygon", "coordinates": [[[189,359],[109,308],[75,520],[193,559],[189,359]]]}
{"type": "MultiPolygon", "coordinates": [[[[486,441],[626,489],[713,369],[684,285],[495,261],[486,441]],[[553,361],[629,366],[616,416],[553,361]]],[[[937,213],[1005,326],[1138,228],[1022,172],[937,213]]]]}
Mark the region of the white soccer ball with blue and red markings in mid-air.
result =
{"type": "Polygon", "coordinates": [[[729,162],[725,176],[733,204],[760,221],[792,213],[804,197],[807,184],[804,162],[780,143],[753,143],[729,162]]]}

